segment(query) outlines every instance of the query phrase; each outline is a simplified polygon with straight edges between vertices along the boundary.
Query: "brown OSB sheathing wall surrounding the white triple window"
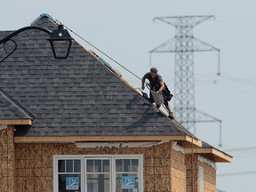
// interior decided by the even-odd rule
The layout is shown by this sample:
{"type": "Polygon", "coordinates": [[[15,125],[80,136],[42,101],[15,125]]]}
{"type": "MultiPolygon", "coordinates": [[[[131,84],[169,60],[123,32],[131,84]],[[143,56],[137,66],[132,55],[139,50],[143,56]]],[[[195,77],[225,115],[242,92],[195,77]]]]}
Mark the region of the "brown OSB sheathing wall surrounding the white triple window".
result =
{"type": "Polygon", "coordinates": [[[53,155],[90,154],[143,154],[145,192],[179,192],[185,188],[184,155],[174,151],[171,142],[151,148],[76,148],[75,144],[16,144],[15,149],[15,192],[51,192],[53,155]]]}

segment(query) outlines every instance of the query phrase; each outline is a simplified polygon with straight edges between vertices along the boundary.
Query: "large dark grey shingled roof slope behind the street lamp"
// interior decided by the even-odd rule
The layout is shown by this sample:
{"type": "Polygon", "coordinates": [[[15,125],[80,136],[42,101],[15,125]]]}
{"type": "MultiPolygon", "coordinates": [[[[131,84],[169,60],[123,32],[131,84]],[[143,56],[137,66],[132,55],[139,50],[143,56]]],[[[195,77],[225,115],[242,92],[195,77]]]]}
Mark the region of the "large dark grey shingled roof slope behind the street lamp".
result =
{"type": "MultiPolygon", "coordinates": [[[[33,25],[56,28],[47,15],[33,25]]],[[[68,60],[55,60],[46,38],[22,32],[16,52],[0,63],[0,117],[33,119],[32,126],[17,126],[15,136],[192,135],[77,42],[68,60]]]]}

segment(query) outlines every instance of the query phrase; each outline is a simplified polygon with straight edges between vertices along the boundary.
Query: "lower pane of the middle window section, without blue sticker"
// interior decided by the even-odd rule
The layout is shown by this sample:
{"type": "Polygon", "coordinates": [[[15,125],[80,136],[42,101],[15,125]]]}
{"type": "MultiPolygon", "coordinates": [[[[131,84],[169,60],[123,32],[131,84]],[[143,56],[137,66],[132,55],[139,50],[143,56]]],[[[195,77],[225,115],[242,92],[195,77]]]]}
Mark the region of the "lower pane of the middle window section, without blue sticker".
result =
{"type": "Polygon", "coordinates": [[[110,192],[109,174],[87,174],[87,192],[110,192]]]}

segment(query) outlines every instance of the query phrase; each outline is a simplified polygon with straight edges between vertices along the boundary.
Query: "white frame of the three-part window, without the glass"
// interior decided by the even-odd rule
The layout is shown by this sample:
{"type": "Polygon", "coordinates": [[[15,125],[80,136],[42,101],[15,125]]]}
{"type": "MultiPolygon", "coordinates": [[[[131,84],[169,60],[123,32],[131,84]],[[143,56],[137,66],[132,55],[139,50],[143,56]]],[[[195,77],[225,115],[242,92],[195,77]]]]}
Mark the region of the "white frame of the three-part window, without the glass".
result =
{"type": "Polygon", "coordinates": [[[85,192],[86,181],[85,181],[85,162],[86,159],[109,159],[110,165],[110,191],[116,191],[116,172],[115,164],[116,159],[138,159],[139,160],[139,191],[143,191],[143,155],[132,154],[132,155],[53,155],[53,192],[58,192],[59,180],[58,180],[58,160],[80,160],[81,161],[81,192],[85,192]]]}

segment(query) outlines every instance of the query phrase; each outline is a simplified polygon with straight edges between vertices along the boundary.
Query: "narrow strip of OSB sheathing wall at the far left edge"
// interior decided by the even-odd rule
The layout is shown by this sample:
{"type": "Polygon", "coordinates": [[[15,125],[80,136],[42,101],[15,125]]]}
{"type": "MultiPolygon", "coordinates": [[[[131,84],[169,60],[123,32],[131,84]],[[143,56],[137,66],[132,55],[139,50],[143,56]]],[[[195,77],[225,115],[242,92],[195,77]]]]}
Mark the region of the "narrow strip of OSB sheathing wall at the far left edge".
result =
{"type": "Polygon", "coordinates": [[[13,127],[0,125],[0,191],[14,191],[14,142],[13,127]]]}

